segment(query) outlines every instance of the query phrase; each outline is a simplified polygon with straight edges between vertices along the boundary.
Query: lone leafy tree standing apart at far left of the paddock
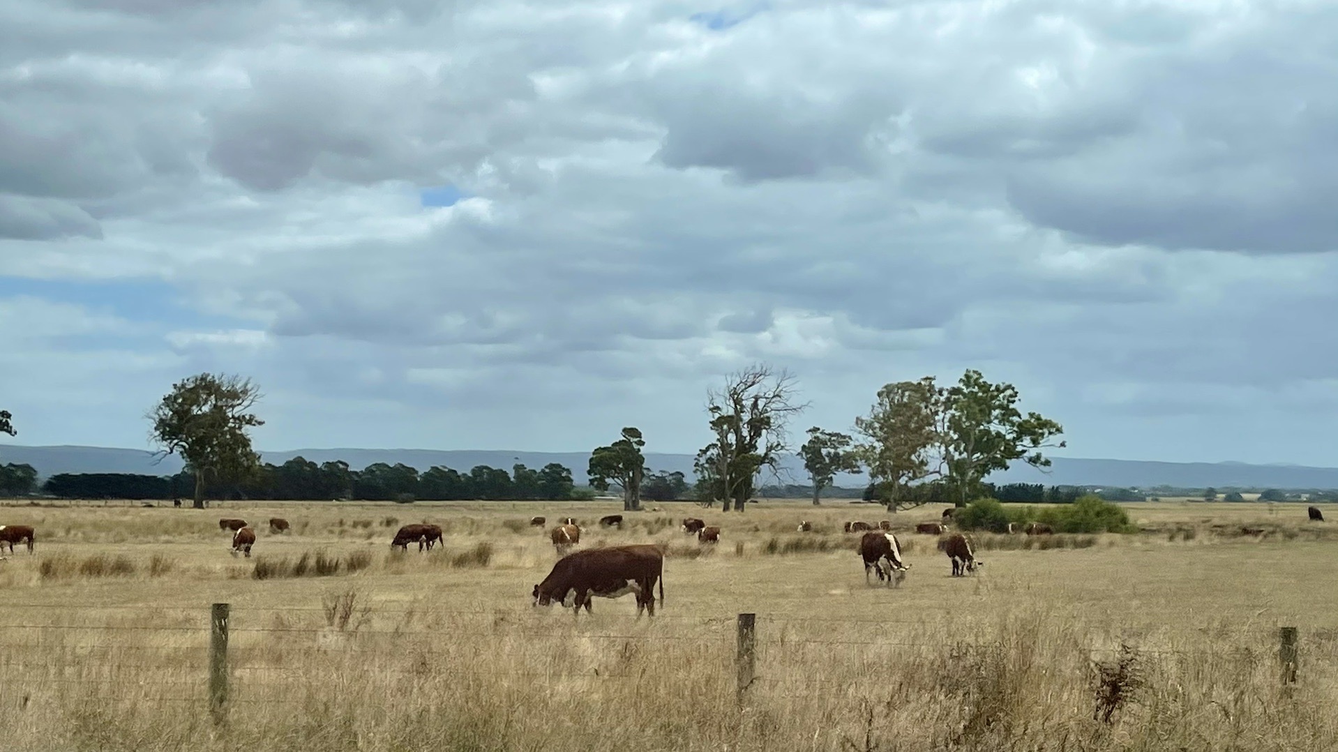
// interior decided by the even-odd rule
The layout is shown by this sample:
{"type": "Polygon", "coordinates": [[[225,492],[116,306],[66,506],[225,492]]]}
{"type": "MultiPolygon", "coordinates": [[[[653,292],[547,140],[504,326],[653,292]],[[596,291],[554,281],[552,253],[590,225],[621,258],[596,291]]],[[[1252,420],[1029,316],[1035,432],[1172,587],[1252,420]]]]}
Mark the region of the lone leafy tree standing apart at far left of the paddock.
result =
{"type": "Polygon", "coordinates": [[[260,396],[250,379],[199,373],[173,384],[149,412],[159,459],[181,455],[195,476],[195,508],[205,508],[207,480],[241,480],[260,464],[248,434],[265,424],[250,412],[260,396]]]}

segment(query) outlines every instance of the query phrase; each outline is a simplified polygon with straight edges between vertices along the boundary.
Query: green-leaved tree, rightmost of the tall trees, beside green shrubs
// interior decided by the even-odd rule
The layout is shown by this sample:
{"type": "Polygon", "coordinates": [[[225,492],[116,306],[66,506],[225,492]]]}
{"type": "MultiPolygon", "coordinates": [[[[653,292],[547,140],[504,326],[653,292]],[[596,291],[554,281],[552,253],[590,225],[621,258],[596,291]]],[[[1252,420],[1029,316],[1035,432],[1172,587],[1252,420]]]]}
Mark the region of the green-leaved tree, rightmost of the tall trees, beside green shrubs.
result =
{"type": "Polygon", "coordinates": [[[1037,412],[1022,415],[1018,399],[1013,384],[991,384],[974,369],[942,392],[939,451],[958,506],[973,498],[990,472],[1008,470],[1018,459],[1050,467],[1040,450],[1068,446],[1053,443],[1064,432],[1058,423],[1037,412]]]}

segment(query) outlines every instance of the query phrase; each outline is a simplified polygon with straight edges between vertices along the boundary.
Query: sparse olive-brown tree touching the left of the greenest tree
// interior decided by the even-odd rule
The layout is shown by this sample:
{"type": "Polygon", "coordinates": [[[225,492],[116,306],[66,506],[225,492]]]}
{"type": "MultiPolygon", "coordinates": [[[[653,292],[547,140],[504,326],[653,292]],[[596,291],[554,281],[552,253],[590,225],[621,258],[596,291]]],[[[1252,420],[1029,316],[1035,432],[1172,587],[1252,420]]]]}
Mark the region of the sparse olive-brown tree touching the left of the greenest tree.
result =
{"type": "Polygon", "coordinates": [[[935,472],[930,458],[942,444],[943,396],[933,376],[896,381],[878,389],[868,416],[855,419],[855,430],[864,436],[859,458],[888,511],[923,503],[907,498],[904,490],[935,472]]]}

